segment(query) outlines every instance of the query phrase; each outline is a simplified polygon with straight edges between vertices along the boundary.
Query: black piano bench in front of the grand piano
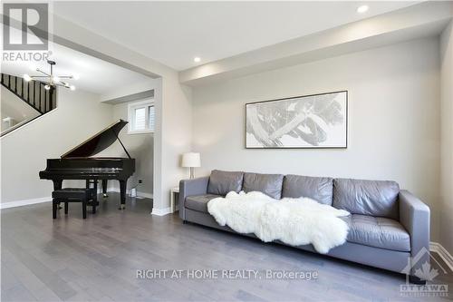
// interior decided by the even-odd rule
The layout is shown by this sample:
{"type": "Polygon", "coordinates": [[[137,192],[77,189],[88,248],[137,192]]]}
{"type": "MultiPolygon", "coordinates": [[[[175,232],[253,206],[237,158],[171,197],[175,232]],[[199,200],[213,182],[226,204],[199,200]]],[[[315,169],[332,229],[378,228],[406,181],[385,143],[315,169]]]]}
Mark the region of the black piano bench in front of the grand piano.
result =
{"type": "MultiPolygon", "coordinates": [[[[82,202],[82,217],[86,219],[86,207],[92,199],[92,189],[64,188],[52,192],[53,219],[56,219],[58,204],[64,202],[64,214],[68,214],[68,202],[82,202]]],[[[96,203],[92,202],[92,213],[96,213],[96,203]]]]}

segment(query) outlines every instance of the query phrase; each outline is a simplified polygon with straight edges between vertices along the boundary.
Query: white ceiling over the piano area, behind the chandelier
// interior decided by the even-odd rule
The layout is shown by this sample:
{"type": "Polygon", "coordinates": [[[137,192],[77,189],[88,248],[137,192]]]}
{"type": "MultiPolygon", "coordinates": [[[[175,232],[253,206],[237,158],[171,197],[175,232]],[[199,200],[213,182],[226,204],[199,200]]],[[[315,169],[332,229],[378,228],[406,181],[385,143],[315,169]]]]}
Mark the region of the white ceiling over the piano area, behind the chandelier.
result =
{"type": "MultiPolygon", "coordinates": [[[[20,33],[20,32],[19,32],[20,33]]],[[[74,51],[59,44],[51,44],[53,54],[50,58],[56,62],[55,75],[77,74],[79,80],[68,80],[76,89],[91,93],[111,93],[111,90],[135,83],[149,81],[149,77],[124,69],[118,65],[107,63],[87,54],[74,51]]],[[[2,73],[22,76],[24,73],[38,75],[31,67],[39,67],[49,73],[49,64],[30,63],[25,61],[2,61],[2,73]]]]}

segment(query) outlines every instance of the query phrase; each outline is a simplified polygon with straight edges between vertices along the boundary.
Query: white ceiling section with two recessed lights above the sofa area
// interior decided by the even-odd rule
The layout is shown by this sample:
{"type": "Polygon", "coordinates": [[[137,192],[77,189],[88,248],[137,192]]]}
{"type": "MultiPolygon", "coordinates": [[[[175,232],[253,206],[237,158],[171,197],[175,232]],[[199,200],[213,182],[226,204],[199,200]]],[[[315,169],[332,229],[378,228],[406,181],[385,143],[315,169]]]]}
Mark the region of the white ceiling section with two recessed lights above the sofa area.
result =
{"type": "Polygon", "coordinates": [[[416,3],[64,1],[54,2],[53,13],[185,70],[416,3]],[[363,4],[370,10],[360,15],[363,4]]]}

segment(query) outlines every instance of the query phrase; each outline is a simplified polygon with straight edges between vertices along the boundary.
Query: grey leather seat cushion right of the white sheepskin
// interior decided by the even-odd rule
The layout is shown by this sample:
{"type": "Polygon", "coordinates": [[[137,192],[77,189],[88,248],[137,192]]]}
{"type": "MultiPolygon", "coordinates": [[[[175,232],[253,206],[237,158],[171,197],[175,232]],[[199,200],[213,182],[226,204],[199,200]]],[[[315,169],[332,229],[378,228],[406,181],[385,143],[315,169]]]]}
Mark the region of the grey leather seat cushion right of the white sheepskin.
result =
{"type": "Polygon", "coordinates": [[[394,219],[352,214],[342,217],[349,225],[347,241],[374,248],[410,251],[410,235],[394,219]]]}

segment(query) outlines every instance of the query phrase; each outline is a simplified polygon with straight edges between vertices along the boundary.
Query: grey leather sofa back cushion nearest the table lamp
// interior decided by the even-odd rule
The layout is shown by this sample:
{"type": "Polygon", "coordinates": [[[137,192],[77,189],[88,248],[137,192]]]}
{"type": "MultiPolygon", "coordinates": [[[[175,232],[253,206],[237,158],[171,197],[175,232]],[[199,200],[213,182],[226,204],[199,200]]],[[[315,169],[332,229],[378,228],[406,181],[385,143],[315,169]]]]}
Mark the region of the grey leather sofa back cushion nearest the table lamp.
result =
{"type": "Polygon", "coordinates": [[[226,170],[213,170],[209,176],[207,193],[226,195],[234,190],[236,193],[242,190],[244,172],[230,172],[226,170]]]}

